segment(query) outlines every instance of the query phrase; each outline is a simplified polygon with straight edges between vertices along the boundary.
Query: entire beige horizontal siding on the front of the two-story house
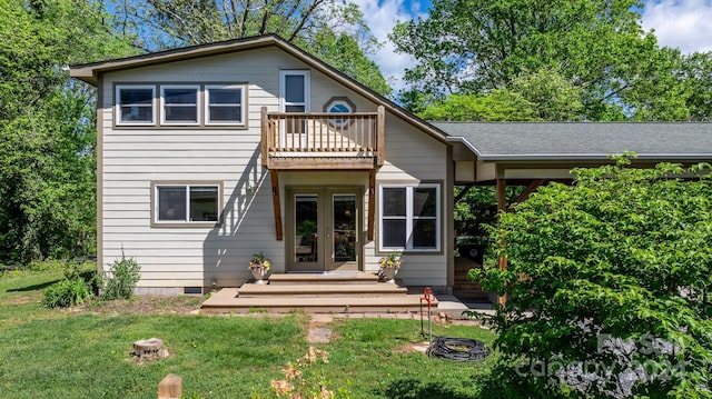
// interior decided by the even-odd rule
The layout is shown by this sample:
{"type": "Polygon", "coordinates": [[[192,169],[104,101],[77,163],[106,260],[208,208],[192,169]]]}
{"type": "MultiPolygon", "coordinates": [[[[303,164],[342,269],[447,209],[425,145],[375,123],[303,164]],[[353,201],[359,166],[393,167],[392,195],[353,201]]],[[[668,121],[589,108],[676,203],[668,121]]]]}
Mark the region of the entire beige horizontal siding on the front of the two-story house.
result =
{"type": "MultiPolygon", "coordinates": [[[[275,239],[269,172],[259,160],[260,110],[279,110],[279,70],[306,69],[297,59],[277,49],[258,49],[235,54],[145,67],[107,73],[103,77],[103,176],[100,216],[102,262],[111,265],[122,253],[141,265],[139,289],[239,286],[250,279],[247,270],[253,253],[263,251],[274,272],[285,270],[285,241],[275,239]],[[247,128],[230,127],[119,127],[115,126],[115,84],[212,84],[246,82],[247,128]],[[151,182],[221,182],[224,219],[219,228],[186,226],[151,227],[151,182]],[[257,191],[251,192],[250,188],[257,191]]],[[[377,104],[356,96],[316,70],[310,73],[310,107],[322,112],[333,97],[347,97],[358,112],[374,112],[377,104]]],[[[155,109],[158,112],[159,109],[155,109]]],[[[199,110],[204,112],[204,108],[199,110]]],[[[160,114],[156,114],[160,120],[160,114]]],[[[386,114],[386,163],[377,174],[380,182],[446,181],[446,146],[400,119],[386,114]]],[[[363,237],[366,238],[367,172],[284,172],[279,174],[281,211],[285,186],[363,184],[363,237]],[[315,180],[315,176],[318,176],[315,180]]],[[[446,187],[442,187],[444,192],[446,187]]],[[[442,201],[446,203],[445,197],[442,201]]],[[[442,236],[449,237],[442,211],[442,236]]],[[[376,217],[378,212],[376,211],[376,217]]],[[[284,220],[283,220],[284,221],[284,220]]],[[[377,221],[376,221],[377,228],[377,221]]],[[[285,235],[288,225],[285,222],[285,235]]],[[[376,271],[376,241],[366,242],[365,270],[376,271]]],[[[406,283],[445,286],[447,240],[437,255],[408,256],[399,277],[406,283]]]]}

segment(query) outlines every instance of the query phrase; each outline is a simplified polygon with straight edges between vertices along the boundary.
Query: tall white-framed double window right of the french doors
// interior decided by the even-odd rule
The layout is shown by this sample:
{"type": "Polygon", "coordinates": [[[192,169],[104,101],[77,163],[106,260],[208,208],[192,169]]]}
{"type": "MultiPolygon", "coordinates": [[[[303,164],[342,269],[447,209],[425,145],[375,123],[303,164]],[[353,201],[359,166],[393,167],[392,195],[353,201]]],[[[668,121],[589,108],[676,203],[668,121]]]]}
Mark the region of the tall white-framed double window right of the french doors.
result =
{"type": "Polygon", "coordinates": [[[380,250],[438,251],[441,186],[380,186],[380,250]]]}

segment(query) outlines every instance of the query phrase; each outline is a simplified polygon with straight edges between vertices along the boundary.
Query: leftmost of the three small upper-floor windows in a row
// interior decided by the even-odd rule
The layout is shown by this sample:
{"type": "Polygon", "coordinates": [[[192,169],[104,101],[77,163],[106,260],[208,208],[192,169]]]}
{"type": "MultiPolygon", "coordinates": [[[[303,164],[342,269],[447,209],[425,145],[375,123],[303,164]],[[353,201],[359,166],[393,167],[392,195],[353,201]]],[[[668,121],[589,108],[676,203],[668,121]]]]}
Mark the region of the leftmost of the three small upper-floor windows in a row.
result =
{"type": "Polygon", "coordinates": [[[117,86],[117,124],[156,124],[155,97],[154,86],[117,86]]]}

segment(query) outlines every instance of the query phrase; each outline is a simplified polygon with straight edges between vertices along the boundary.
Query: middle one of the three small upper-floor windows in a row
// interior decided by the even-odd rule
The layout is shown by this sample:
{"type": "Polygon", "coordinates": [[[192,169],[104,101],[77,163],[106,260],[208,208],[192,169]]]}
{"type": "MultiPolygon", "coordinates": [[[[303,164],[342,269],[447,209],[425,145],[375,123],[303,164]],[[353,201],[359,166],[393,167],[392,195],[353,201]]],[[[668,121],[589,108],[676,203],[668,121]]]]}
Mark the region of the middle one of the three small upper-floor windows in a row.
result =
{"type": "Polygon", "coordinates": [[[198,124],[197,86],[164,86],[160,88],[161,123],[198,124]]]}

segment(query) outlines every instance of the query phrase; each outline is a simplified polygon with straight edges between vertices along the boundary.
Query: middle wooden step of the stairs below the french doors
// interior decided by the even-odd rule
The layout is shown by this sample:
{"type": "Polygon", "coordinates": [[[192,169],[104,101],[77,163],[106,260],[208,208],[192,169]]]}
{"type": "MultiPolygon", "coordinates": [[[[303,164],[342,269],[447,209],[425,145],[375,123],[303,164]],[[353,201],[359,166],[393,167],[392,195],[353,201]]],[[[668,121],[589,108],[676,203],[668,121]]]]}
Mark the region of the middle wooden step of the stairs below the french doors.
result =
{"type": "Polygon", "coordinates": [[[324,298],[324,297],[387,297],[404,296],[408,289],[396,283],[318,283],[318,285],[255,285],[246,283],[238,289],[239,298],[259,297],[297,297],[297,298],[324,298]]]}

